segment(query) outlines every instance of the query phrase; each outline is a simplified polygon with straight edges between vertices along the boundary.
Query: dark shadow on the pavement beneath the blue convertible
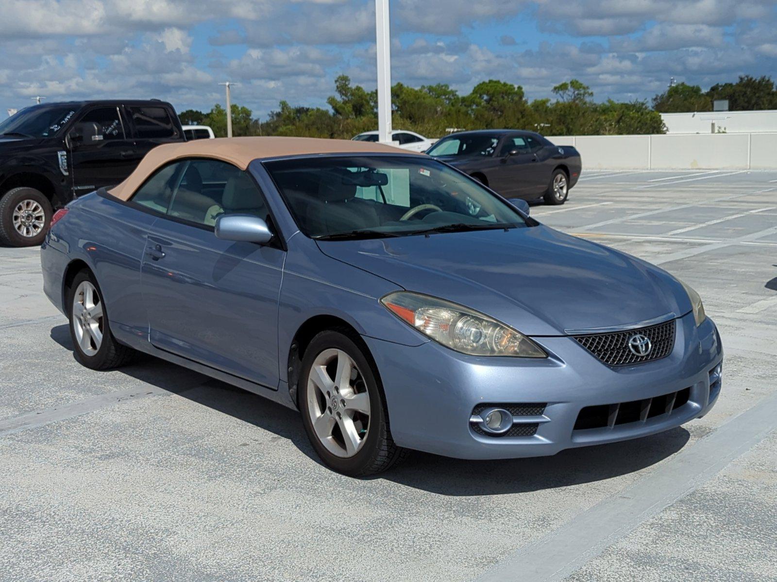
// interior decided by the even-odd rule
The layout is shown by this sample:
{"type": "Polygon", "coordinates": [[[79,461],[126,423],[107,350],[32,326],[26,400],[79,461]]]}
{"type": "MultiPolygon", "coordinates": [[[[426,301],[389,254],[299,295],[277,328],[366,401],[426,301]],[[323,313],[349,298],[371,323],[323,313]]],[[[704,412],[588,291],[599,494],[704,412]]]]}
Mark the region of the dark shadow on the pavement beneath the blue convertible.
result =
{"type": "MultiPolygon", "coordinates": [[[[52,328],[51,338],[72,352],[68,325],[52,328]]],[[[287,439],[313,462],[322,465],[296,411],[149,355],[141,355],[137,362],[117,372],[270,431],[276,435],[274,438],[287,439]]],[[[368,479],[393,481],[451,496],[524,493],[634,473],[678,452],[689,438],[685,428],[674,428],[660,435],[570,449],[556,456],[497,461],[451,459],[413,452],[400,466],[368,479]]]]}

